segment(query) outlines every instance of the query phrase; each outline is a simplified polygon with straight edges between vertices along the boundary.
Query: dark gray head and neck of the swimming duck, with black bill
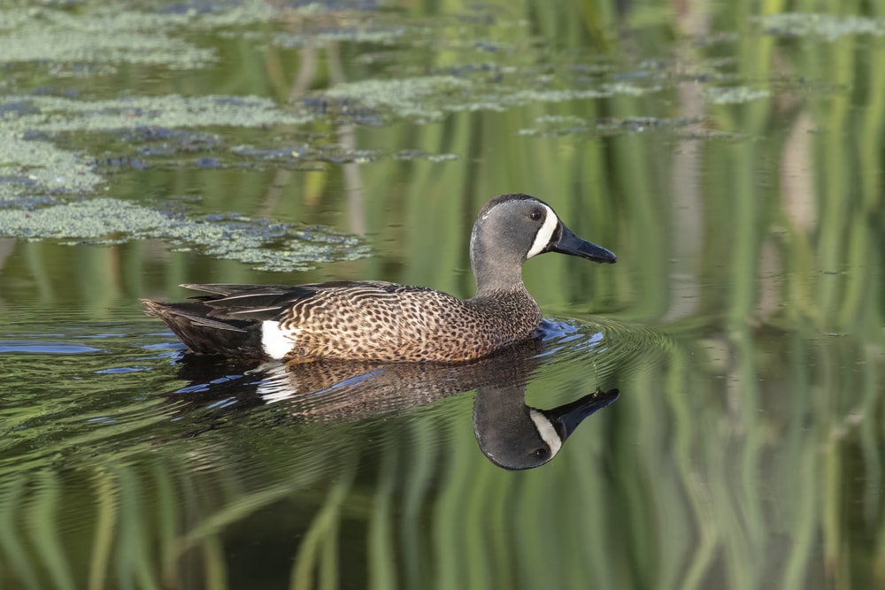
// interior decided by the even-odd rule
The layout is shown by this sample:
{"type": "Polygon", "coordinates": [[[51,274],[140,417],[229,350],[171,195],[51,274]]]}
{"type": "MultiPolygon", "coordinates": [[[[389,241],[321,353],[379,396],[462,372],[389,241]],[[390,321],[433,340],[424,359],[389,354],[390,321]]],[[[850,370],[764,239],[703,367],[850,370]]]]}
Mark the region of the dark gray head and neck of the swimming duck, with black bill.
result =
{"type": "Polygon", "coordinates": [[[616,260],[609,250],[575,235],[542,200],[518,193],[496,196],[480,211],[470,236],[477,293],[521,286],[522,263],[544,252],[616,260]]]}

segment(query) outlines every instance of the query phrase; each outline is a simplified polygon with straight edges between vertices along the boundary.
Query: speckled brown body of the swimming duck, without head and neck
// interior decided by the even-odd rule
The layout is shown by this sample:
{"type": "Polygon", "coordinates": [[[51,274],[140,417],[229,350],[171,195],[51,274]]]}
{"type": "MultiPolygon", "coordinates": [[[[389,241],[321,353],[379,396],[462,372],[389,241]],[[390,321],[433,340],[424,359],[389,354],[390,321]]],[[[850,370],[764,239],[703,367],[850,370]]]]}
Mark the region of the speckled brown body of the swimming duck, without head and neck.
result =
{"type": "Polygon", "coordinates": [[[541,310],[526,291],[458,299],[381,281],[183,285],[212,295],[146,302],[203,354],[336,360],[461,362],[527,339],[541,310]]]}

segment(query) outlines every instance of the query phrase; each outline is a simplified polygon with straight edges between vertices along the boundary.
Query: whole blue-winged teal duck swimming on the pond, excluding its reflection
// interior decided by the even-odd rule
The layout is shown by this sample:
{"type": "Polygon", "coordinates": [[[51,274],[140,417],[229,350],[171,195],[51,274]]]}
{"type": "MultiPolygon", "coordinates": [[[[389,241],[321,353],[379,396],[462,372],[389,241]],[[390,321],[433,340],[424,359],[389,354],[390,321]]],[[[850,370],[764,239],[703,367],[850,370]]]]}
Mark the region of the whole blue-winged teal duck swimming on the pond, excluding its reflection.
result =
{"type": "Polygon", "coordinates": [[[528,195],[486,203],[470,236],[476,295],[381,281],[299,285],[182,285],[210,295],[186,303],[145,301],[149,313],[197,353],[312,361],[437,361],[489,355],[529,338],[541,309],[522,264],[544,252],[613,263],[607,249],[568,229],[528,195]]]}

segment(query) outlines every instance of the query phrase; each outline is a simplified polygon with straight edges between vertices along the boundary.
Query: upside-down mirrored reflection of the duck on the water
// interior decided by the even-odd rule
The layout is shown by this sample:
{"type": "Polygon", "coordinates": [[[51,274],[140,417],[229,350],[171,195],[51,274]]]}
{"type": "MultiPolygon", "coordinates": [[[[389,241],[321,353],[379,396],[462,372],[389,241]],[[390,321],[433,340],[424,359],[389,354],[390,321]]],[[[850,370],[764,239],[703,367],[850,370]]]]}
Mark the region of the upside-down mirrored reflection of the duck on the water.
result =
{"type": "Polygon", "coordinates": [[[235,374],[227,362],[186,355],[181,376],[195,384],[172,396],[181,402],[187,395],[218,413],[285,403],[287,419],[325,421],[370,418],[475,389],[473,433],[482,453],[499,467],[523,470],[549,462],[584,418],[619,395],[617,389],[596,390],[550,410],[527,406],[528,380],[543,362],[541,346],[522,342],[469,364],[273,363],[235,374]]]}

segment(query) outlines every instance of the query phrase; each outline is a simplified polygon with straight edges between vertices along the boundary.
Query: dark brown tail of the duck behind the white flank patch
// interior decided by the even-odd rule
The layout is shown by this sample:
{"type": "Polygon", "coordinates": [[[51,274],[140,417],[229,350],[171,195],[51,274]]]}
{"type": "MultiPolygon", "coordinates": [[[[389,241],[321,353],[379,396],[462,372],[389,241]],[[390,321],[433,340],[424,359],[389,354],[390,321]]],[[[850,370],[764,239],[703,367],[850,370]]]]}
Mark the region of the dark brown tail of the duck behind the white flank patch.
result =
{"type": "Polygon", "coordinates": [[[202,302],[162,303],[142,299],[149,316],[162,319],[187,347],[198,354],[266,358],[261,322],[219,317],[202,302]]]}

